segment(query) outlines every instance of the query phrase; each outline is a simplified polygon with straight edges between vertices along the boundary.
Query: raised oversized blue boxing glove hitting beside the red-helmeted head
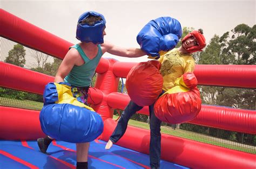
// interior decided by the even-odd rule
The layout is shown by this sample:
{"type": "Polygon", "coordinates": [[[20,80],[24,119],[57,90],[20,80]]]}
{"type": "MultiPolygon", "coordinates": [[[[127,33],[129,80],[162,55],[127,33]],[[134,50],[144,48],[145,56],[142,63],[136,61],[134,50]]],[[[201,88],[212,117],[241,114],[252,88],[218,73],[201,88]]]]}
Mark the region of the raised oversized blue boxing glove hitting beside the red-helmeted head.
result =
{"type": "Polygon", "coordinates": [[[160,51],[173,49],[181,35],[182,28],[177,19],[159,17],[143,27],[137,35],[137,42],[148,55],[159,56],[160,51]]]}

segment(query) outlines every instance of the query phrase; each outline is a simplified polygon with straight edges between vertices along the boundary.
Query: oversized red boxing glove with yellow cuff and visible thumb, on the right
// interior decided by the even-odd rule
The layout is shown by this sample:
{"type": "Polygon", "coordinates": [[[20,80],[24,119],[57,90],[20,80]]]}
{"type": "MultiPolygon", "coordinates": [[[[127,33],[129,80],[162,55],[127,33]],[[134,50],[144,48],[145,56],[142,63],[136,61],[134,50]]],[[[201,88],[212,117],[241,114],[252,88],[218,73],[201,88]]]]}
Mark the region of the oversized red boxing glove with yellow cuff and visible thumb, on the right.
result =
{"type": "Polygon", "coordinates": [[[158,119],[170,124],[185,123],[194,119],[201,110],[197,78],[185,73],[177,78],[175,86],[165,92],[154,104],[158,119]]]}

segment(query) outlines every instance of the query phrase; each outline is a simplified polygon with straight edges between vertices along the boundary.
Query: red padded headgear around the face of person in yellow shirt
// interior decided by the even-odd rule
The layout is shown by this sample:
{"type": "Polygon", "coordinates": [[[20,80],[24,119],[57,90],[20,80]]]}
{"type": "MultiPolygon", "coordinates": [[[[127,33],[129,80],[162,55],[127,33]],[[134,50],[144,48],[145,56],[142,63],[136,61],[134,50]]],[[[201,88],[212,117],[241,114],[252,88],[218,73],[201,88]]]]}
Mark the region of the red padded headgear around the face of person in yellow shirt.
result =
{"type": "Polygon", "coordinates": [[[185,49],[187,52],[192,53],[192,52],[197,52],[197,51],[202,51],[203,48],[205,48],[206,43],[205,43],[205,37],[200,31],[192,31],[188,33],[183,39],[182,43],[185,42],[188,38],[194,37],[194,39],[197,40],[197,45],[192,46],[191,48],[185,49]]]}

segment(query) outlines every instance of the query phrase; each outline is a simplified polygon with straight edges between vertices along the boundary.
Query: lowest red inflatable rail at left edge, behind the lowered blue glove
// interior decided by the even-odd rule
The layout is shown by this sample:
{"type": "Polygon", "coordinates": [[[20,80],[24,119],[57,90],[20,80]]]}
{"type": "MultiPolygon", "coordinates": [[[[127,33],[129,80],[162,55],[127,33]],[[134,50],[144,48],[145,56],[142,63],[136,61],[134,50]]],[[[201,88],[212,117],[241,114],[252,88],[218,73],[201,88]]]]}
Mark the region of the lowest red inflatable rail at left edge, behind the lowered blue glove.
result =
{"type": "Polygon", "coordinates": [[[39,111],[0,106],[0,139],[36,140],[45,137],[39,111]]]}

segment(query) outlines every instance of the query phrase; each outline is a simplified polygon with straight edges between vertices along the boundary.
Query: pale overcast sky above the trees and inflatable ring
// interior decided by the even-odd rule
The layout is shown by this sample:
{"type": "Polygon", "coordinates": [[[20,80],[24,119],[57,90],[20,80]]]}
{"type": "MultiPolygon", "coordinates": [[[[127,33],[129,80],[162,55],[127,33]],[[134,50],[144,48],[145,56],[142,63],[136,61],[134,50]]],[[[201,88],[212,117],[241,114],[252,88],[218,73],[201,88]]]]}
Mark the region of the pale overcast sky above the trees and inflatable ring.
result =
{"type": "MultiPolygon", "coordinates": [[[[202,28],[206,41],[223,35],[238,24],[253,26],[255,0],[230,1],[5,1],[1,8],[71,43],[76,39],[78,17],[85,11],[102,13],[106,18],[105,40],[123,47],[136,47],[138,32],[151,19],[170,16],[181,26],[202,28]]],[[[143,62],[147,57],[123,58],[105,53],[103,57],[122,62],[143,62]]]]}

